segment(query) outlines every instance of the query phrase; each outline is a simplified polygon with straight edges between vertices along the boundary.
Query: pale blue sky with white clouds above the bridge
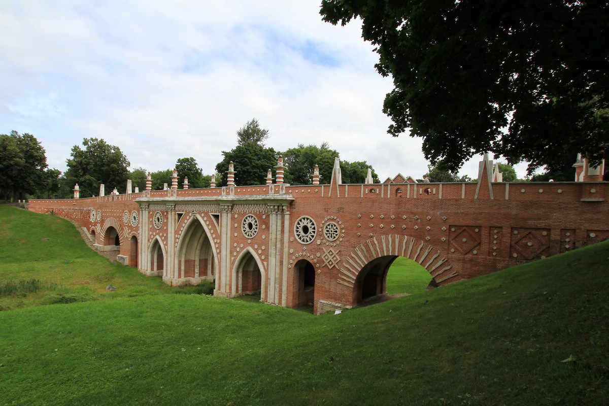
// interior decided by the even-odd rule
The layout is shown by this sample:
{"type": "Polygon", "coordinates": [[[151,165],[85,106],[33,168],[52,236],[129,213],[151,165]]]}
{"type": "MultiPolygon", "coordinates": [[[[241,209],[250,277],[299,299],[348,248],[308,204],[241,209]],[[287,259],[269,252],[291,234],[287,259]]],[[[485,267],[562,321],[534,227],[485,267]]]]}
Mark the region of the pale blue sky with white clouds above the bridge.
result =
{"type": "MultiPolygon", "coordinates": [[[[421,178],[421,140],[387,134],[392,79],[361,24],[322,21],[314,0],[2,0],[0,133],[30,133],[65,170],[85,138],[130,169],[195,158],[206,175],[253,118],[267,147],[328,142],[381,180],[421,178]]],[[[476,156],[461,175],[477,177],[476,156]]],[[[516,166],[518,177],[526,167],[516,166]]]]}

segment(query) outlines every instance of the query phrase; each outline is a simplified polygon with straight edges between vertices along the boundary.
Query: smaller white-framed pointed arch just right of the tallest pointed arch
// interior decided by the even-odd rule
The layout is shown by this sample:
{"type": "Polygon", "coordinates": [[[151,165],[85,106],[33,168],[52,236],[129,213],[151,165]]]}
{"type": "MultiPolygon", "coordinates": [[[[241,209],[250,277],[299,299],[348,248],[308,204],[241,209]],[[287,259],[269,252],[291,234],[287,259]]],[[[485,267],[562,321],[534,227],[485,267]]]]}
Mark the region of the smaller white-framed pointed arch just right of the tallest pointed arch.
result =
{"type": "Polygon", "coordinates": [[[234,262],[232,274],[232,296],[241,296],[259,289],[260,300],[267,301],[266,271],[258,254],[251,247],[245,247],[241,251],[237,261],[234,262]]]}

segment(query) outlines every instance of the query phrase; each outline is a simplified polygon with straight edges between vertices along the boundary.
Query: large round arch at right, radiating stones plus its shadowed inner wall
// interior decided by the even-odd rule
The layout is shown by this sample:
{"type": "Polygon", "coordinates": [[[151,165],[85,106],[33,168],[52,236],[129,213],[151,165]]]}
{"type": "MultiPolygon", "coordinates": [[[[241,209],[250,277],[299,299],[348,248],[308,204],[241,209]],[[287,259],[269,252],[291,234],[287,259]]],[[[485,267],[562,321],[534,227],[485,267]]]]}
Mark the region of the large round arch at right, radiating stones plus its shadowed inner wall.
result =
{"type": "Polygon", "coordinates": [[[442,251],[415,237],[389,234],[366,240],[342,258],[339,284],[353,292],[353,304],[364,296],[383,293],[389,267],[399,256],[417,262],[438,285],[461,279],[442,251]]]}

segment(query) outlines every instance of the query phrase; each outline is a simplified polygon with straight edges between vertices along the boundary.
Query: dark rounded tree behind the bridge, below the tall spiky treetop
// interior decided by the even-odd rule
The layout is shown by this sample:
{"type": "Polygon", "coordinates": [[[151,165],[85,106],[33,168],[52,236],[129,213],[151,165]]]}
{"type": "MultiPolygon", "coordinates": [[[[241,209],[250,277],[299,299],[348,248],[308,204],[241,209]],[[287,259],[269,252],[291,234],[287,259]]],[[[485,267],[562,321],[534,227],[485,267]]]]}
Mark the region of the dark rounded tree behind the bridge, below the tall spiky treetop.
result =
{"type": "Polygon", "coordinates": [[[266,184],[267,171],[277,164],[277,155],[272,148],[264,148],[255,142],[237,145],[231,151],[222,151],[224,159],[216,165],[216,172],[222,174],[216,178],[217,186],[227,186],[228,164],[234,164],[234,183],[238,186],[266,184]]]}

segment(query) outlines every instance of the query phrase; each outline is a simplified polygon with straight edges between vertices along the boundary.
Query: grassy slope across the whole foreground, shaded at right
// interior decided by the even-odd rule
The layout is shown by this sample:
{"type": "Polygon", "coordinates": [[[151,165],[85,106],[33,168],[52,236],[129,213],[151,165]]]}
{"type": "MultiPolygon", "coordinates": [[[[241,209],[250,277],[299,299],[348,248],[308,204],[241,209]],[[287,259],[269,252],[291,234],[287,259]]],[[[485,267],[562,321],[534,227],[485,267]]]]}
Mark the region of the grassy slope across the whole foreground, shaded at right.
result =
{"type": "Polygon", "coordinates": [[[0,312],[0,405],[606,405],[608,259],[336,316],[198,295],[0,312]]]}

